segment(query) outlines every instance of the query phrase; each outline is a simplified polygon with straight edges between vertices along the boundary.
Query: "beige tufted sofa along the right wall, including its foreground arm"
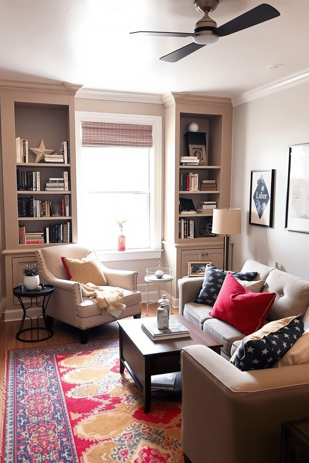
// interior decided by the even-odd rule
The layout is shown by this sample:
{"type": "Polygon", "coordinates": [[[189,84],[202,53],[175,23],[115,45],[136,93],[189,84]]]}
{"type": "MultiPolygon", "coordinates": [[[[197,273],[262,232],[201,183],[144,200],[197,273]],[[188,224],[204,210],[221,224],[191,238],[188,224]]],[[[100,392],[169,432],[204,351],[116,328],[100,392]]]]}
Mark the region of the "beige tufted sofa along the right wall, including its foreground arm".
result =
{"type": "MultiPolygon", "coordinates": [[[[248,260],[262,291],[275,292],[267,321],[303,315],[309,328],[309,281],[248,260]]],[[[244,335],[193,304],[202,278],[178,282],[180,313],[223,344],[221,356],[203,346],[182,350],[182,446],[192,463],[279,463],[281,423],[309,417],[309,363],[240,371],[227,360],[244,335]]],[[[200,307],[198,307],[200,306],[200,307]]],[[[309,346],[308,346],[309,349],[309,346]]]]}

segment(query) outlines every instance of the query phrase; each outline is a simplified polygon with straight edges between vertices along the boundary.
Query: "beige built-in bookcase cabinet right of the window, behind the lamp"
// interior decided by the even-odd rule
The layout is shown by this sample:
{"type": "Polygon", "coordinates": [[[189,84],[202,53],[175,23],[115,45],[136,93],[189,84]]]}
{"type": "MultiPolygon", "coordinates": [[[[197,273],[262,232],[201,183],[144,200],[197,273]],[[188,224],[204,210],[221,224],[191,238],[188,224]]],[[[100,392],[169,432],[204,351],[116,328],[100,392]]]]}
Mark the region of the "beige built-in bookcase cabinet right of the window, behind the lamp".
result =
{"type": "MultiPolygon", "coordinates": [[[[212,261],[222,266],[223,238],[207,237],[202,218],[208,214],[179,213],[179,198],[191,198],[195,207],[200,201],[215,201],[217,207],[230,206],[232,118],[229,98],[170,93],[162,97],[164,104],[164,266],[173,269],[173,302],[177,304],[177,279],[188,274],[189,261],[212,261]],[[183,166],[186,156],[185,133],[195,122],[206,133],[207,165],[183,166]],[[181,191],[181,173],[197,173],[200,180],[215,180],[216,190],[181,191]],[[181,238],[179,220],[194,220],[195,237],[181,238]]],[[[230,249],[230,256],[231,256],[230,249]]],[[[230,258],[231,262],[231,258],[230,258]]]]}

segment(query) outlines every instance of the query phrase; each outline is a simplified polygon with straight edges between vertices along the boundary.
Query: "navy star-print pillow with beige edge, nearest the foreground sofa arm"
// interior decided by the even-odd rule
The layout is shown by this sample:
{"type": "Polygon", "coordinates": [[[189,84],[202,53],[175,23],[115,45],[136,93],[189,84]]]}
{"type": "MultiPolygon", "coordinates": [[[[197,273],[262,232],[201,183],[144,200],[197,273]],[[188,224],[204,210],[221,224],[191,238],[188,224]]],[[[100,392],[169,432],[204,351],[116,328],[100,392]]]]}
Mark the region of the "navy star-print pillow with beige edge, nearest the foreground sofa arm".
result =
{"type": "Polygon", "coordinates": [[[241,371],[269,368],[303,334],[301,315],[267,323],[246,336],[230,359],[241,371]]]}

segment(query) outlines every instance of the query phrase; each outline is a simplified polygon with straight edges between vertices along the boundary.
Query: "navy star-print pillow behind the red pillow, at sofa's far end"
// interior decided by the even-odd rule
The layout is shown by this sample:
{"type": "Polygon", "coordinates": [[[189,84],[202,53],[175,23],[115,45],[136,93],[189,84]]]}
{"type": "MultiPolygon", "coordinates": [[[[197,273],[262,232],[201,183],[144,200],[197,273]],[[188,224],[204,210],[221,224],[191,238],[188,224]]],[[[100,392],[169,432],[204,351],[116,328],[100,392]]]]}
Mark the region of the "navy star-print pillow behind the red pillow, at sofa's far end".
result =
{"type": "MultiPolygon", "coordinates": [[[[251,282],[258,275],[258,272],[240,273],[230,272],[240,280],[251,282]]],[[[206,304],[213,306],[218,297],[222,283],[224,282],[227,272],[217,269],[214,265],[206,264],[204,281],[200,294],[193,300],[197,304],[206,304]]]]}

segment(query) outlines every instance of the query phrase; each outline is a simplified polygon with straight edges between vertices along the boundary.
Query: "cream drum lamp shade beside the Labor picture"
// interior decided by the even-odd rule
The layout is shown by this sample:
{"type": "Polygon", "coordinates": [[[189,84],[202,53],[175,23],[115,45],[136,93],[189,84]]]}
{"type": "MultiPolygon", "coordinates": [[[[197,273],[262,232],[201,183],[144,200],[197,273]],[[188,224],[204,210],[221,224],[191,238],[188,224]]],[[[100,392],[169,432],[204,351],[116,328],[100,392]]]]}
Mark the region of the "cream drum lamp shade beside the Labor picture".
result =
{"type": "Polygon", "coordinates": [[[241,209],[214,209],[212,233],[237,235],[241,233],[241,209]]]}

